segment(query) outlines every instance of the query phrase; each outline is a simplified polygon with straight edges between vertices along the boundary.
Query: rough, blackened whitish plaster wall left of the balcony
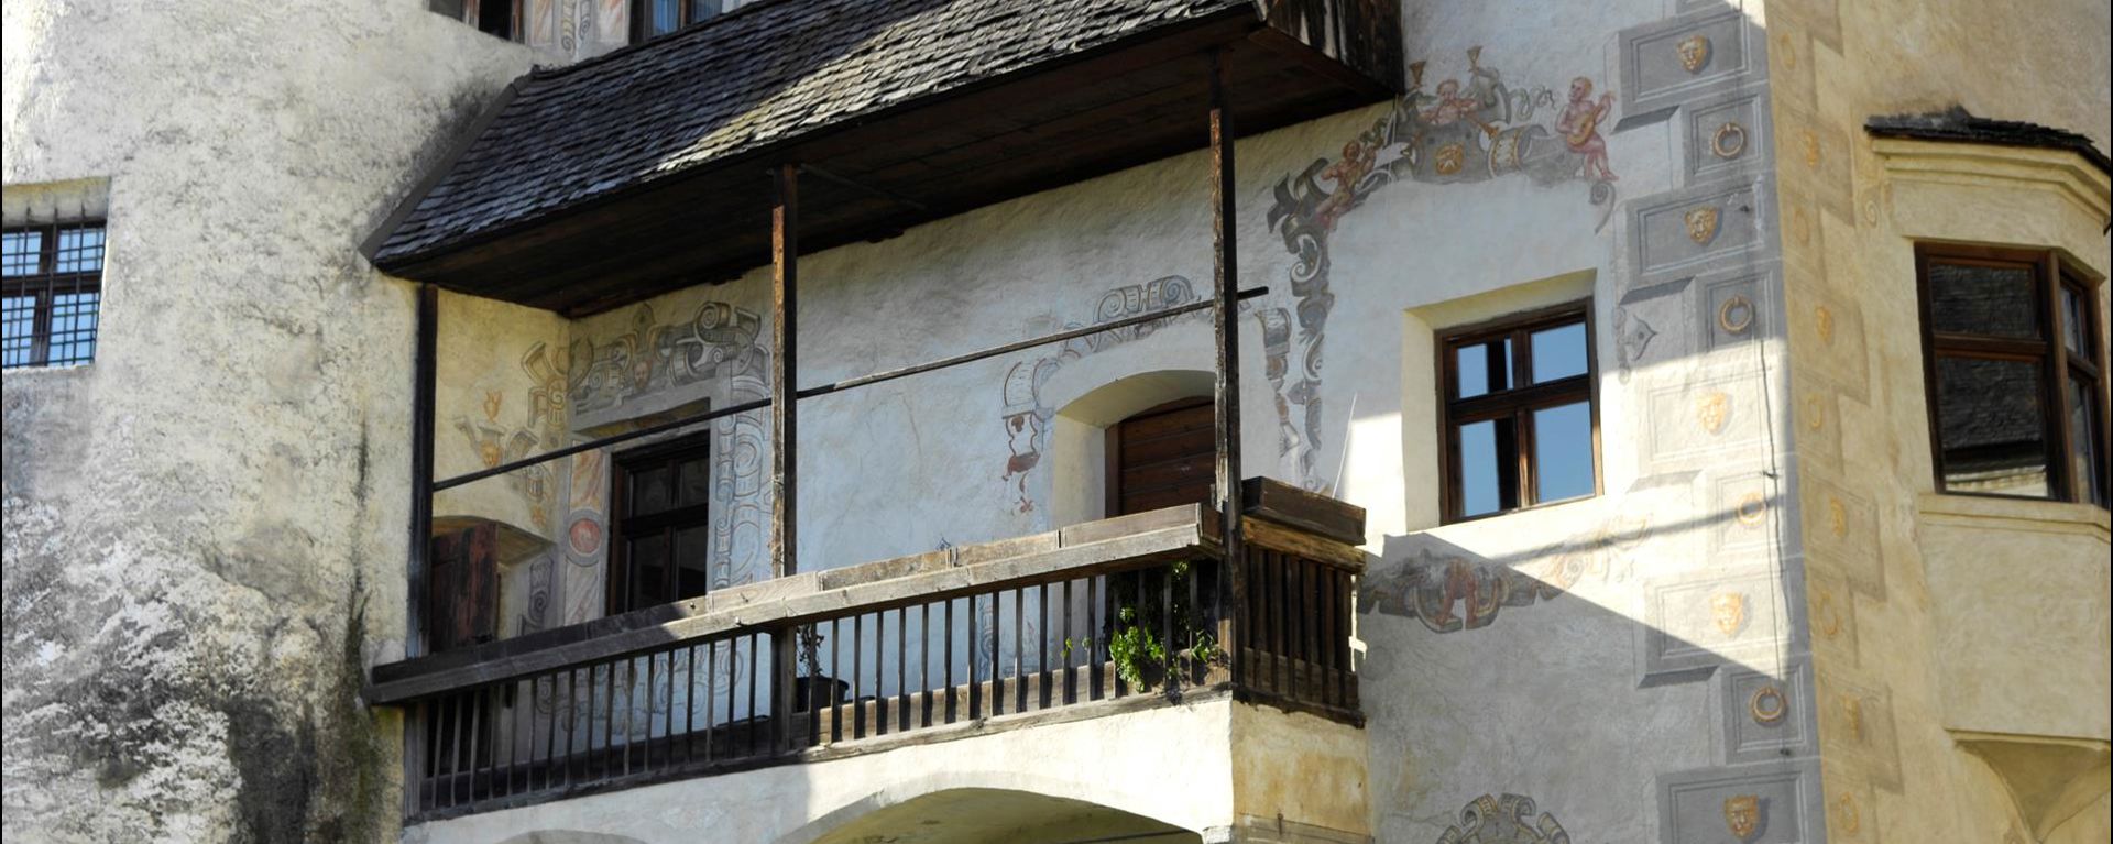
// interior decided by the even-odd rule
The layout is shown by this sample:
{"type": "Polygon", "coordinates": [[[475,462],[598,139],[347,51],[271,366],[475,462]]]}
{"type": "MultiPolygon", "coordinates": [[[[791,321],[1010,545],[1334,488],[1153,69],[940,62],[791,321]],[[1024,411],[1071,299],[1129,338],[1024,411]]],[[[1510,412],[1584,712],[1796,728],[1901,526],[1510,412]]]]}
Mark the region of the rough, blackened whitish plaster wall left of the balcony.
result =
{"type": "Polygon", "coordinates": [[[416,0],[0,21],[8,205],[110,199],[95,362],[0,377],[0,827],[389,838],[412,296],[357,247],[528,53],[416,0]]]}

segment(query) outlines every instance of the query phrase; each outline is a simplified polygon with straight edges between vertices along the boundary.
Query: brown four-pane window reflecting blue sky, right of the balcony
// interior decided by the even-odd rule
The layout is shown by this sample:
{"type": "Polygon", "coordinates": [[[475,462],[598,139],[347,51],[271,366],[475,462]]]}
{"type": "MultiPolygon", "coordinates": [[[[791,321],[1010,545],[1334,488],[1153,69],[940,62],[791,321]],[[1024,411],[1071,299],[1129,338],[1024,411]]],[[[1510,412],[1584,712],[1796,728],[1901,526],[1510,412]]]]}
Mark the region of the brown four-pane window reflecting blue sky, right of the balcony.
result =
{"type": "Polygon", "coordinates": [[[1445,520],[1597,495],[1591,302],[1439,334],[1445,520]]]}

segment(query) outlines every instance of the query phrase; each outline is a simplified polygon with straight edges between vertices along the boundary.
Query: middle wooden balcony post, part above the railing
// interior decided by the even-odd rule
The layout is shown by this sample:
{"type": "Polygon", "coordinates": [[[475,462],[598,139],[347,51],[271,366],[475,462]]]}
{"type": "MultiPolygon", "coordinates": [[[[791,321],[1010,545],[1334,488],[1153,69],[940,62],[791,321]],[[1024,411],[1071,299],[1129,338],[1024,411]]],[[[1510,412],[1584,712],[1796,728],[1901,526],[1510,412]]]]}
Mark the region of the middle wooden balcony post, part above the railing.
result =
{"type": "MultiPolygon", "coordinates": [[[[799,165],[771,207],[771,577],[799,569],[799,165]]],[[[750,709],[748,713],[756,713],[750,709]]]]}

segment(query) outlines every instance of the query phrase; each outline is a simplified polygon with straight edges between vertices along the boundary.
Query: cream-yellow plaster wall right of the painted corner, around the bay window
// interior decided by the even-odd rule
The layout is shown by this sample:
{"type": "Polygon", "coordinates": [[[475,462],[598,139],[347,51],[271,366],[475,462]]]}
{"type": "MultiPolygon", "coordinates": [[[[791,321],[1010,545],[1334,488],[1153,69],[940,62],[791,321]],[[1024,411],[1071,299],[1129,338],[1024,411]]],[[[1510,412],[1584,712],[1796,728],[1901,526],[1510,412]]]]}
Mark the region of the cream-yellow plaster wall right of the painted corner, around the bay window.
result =
{"type": "Polygon", "coordinates": [[[2107,178],[1862,129],[1965,106],[2105,150],[2107,27],[2105,4],[1769,2],[1792,391],[1800,442],[1824,444],[1800,446],[1798,497],[1838,842],[2107,836],[2107,514],[1933,493],[1912,260],[1916,239],[2056,247],[2102,279],[2107,178]]]}

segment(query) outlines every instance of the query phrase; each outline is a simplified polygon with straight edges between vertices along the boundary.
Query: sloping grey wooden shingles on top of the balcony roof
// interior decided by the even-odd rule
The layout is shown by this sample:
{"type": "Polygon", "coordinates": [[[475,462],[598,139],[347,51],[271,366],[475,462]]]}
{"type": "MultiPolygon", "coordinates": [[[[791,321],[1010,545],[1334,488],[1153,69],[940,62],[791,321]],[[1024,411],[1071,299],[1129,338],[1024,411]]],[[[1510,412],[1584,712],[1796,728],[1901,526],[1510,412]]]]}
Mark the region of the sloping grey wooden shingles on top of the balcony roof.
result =
{"type": "Polygon", "coordinates": [[[389,269],[822,127],[1253,0],[765,0],[518,78],[380,241],[389,269]]]}

